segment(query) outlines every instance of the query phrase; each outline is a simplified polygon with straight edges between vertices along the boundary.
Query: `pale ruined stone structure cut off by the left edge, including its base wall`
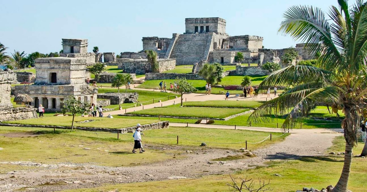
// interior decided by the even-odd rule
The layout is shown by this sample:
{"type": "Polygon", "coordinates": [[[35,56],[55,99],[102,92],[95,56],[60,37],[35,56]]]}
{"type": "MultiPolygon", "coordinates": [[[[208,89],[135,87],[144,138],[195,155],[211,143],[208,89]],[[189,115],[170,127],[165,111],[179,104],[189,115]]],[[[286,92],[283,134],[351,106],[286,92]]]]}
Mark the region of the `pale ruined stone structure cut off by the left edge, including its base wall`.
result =
{"type": "Polygon", "coordinates": [[[13,121],[36,118],[36,109],[33,107],[13,108],[10,102],[11,83],[17,75],[11,71],[0,71],[0,121],[13,121]]]}

